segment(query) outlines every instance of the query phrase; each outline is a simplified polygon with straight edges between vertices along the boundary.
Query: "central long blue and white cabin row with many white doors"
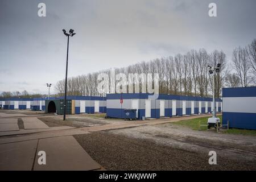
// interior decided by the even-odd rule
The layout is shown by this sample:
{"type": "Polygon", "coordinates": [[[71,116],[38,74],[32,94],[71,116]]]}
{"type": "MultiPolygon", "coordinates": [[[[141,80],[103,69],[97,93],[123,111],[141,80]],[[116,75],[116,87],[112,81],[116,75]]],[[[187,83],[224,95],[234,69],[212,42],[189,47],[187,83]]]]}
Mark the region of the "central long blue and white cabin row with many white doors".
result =
{"type": "MultiPolygon", "coordinates": [[[[160,118],[206,113],[212,98],[147,93],[107,94],[106,116],[126,118],[125,109],[137,109],[137,118],[160,118]],[[207,109],[206,109],[207,107],[207,109]]],[[[216,101],[221,102],[220,99],[216,101]]]]}

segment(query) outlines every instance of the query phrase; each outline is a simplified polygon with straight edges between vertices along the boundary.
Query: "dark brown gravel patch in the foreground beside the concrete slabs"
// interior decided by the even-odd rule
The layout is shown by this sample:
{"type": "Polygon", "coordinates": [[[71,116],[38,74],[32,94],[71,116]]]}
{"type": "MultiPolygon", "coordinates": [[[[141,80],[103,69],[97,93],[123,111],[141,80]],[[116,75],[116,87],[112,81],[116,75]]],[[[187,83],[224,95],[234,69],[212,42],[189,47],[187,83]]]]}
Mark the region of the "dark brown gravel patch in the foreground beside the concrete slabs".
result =
{"type": "Polygon", "coordinates": [[[254,163],[217,156],[209,165],[208,155],[131,138],[109,131],[74,136],[86,152],[107,170],[249,170],[254,163]]]}

